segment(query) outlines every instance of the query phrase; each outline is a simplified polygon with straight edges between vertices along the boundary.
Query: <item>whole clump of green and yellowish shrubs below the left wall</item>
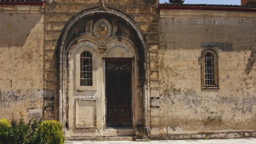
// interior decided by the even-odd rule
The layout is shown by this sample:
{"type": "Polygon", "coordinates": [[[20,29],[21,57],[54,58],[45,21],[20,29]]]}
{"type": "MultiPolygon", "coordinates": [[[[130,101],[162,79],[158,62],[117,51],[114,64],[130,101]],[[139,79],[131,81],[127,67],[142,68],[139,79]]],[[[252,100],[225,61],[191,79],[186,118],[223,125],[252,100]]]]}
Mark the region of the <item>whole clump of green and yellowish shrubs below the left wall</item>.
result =
{"type": "Polygon", "coordinates": [[[20,113],[19,122],[12,116],[0,119],[0,144],[63,144],[64,135],[62,125],[58,121],[44,121],[30,119],[24,122],[20,113]]]}

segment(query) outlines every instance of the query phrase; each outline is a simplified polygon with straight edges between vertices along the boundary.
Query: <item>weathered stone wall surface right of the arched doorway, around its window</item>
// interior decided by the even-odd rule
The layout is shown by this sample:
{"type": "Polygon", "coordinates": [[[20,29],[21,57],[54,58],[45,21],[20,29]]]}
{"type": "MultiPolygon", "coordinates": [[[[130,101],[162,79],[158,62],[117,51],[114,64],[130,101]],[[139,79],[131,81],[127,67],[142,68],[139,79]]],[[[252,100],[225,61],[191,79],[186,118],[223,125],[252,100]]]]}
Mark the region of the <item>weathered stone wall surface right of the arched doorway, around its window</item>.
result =
{"type": "Polygon", "coordinates": [[[255,16],[160,11],[160,117],[151,122],[152,135],[256,129],[255,16]],[[219,56],[219,89],[207,90],[201,88],[199,57],[213,45],[219,56]]]}

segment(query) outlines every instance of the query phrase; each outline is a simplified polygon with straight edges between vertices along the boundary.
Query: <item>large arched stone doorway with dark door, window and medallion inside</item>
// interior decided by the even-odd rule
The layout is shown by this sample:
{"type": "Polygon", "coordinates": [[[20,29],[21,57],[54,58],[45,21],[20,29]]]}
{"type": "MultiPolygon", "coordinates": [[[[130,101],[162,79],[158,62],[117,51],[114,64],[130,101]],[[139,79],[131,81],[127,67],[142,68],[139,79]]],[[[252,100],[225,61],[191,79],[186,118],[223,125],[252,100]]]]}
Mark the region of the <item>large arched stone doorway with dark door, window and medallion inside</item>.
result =
{"type": "Polygon", "coordinates": [[[95,8],[75,15],[57,42],[59,120],[66,136],[148,133],[147,57],[142,33],[120,11],[95,8]]]}

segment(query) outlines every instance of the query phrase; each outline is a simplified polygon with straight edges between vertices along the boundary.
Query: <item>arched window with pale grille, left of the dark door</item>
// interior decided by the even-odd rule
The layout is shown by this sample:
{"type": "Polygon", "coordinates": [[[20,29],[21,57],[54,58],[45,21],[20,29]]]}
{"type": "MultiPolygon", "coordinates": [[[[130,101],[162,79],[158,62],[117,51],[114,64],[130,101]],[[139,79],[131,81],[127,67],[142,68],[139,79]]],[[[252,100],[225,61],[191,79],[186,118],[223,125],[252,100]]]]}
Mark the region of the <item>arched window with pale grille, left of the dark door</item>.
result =
{"type": "Polygon", "coordinates": [[[80,56],[80,86],[92,86],[92,55],[88,51],[80,56]]]}

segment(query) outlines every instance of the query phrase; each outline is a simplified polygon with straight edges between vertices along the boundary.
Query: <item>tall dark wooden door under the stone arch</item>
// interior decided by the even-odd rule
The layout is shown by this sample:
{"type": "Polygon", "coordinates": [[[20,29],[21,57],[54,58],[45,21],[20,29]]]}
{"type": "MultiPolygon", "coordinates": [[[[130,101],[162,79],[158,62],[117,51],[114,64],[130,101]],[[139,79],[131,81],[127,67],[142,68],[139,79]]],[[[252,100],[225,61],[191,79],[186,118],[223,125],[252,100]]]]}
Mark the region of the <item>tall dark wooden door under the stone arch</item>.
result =
{"type": "Polygon", "coordinates": [[[131,128],[132,59],[105,59],[108,128],[131,128]]]}

